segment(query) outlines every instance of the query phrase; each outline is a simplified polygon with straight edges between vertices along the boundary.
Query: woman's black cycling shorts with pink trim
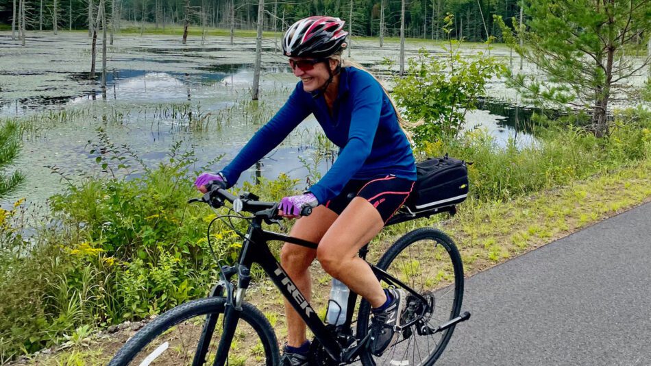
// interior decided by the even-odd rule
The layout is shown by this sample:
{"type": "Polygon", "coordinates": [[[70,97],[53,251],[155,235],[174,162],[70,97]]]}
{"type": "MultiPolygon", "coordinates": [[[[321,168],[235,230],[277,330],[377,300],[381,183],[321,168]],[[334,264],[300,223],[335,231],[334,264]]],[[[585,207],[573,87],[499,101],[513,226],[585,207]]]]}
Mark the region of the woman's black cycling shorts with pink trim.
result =
{"type": "Polygon", "coordinates": [[[355,197],[362,197],[371,202],[373,207],[380,212],[382,221],[386,223],[407,200],[414,188],[414,183],[413,180],[397,178],[395,175],[386,175],[371,180],[350,180],[343,187],[343,191],[326,202],[325,206],[337,215],[341,215],[341,212],[355,197]]]}

